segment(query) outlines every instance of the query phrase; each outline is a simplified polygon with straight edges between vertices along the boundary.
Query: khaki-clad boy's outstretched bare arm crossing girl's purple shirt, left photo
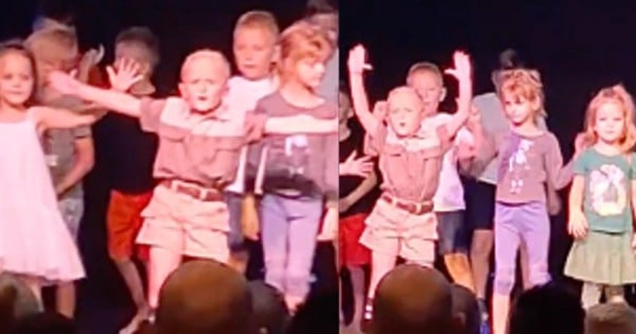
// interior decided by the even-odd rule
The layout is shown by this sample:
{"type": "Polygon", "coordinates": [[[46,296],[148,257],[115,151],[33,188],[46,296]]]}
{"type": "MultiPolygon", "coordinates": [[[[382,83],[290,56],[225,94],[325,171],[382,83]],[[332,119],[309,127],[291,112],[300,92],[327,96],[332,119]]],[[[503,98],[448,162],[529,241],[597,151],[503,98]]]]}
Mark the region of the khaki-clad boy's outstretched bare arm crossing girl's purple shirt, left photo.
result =
{"type": "Polygon", "coordinates": [[[338,119],[315,118],[309,115],[269,117],[265,121],[266,134],[335,134],[338,119]]]}

